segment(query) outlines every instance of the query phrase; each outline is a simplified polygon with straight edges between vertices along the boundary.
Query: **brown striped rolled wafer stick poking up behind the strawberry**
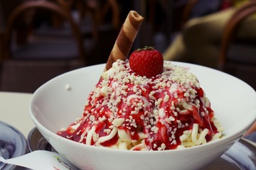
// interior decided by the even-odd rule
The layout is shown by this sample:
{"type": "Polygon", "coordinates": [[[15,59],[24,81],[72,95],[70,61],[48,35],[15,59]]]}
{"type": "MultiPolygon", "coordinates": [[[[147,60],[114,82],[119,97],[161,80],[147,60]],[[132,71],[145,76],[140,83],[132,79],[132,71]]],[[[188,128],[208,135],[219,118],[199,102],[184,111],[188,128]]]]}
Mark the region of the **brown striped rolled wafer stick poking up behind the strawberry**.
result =
{"type": "Polygon", "coordinates": [[[126,60],[129,51],[132,48],[133,42],[139,32],[139,28],[142,25],[144,17],[140,16],[137,11],[129,11],[127,18],[125,19],[122,28],[117,36],[117,40],[114,42],[114,47],[110,52],[105,71],[112,67],[113,62],[120,60],[126,60]]]}

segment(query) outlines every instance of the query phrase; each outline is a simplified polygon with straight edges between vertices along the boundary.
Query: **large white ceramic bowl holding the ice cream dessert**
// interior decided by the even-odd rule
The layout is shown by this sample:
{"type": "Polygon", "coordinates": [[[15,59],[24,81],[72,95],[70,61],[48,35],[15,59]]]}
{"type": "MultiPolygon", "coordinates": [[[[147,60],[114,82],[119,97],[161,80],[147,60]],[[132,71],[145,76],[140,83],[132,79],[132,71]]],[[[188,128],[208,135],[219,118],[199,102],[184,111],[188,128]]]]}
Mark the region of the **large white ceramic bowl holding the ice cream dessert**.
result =
{"type": "Polygon", "coordinates": [[[31,117],[50,145],[79,169],[200,169],[220,157],[254,123],[256,92],[240,79],[215,69],[174,64],[189,67],[198,77],[225,128],[223,139],[186,149],[138,152],[87,146],[56,135],[82,115],[87,96],[105,64],[77,69],[43,84],[31,98],[31,117]]]}

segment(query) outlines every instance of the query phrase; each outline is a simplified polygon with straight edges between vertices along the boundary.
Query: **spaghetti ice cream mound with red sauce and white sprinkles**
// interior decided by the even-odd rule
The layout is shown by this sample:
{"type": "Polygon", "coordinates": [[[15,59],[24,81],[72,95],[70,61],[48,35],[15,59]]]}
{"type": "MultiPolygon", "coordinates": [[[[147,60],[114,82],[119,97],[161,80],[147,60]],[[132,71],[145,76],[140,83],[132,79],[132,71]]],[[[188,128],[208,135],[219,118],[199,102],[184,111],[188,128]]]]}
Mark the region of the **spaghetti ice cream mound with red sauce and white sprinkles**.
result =
{"type": "Polygon", "coordinates": [[[220,139],[222,130],[187,68],[164,62],[161,74],[147,78],[117,60],[91,91],[82,118],[58,135],[97,147],[166,150],[220,139]]]}

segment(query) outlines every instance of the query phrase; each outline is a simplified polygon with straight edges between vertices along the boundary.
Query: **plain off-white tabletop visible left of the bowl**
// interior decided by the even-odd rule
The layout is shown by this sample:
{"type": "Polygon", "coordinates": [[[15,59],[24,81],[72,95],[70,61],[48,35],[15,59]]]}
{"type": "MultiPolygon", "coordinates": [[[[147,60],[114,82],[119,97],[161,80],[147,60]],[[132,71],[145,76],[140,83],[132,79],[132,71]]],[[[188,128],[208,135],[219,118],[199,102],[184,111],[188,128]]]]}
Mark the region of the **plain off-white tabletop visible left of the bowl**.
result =
{"type": "Polygon", "coordinates": [[[25,137],[35,127],[28,110],[31,96],[0,91],[0,120],[20,130],[25,137]]]}

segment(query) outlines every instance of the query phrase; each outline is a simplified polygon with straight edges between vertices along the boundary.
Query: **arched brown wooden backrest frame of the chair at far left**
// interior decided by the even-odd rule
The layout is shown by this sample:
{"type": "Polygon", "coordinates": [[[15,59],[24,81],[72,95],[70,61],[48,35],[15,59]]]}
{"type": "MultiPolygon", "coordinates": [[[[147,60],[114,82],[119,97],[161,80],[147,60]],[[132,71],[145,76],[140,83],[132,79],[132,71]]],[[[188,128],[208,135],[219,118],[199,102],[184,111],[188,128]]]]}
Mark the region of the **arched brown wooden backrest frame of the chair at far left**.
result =
{"type": "Polygon", "coordinates": [[[80,33],[80,28],[77,23],[73,20],[72,16],[65,8],[61,8],[57,4],[54,4],[50,1],[25,1],[16,8],[10,14],[8,21],[6,23],[6,33],[5,33],[5,47],[4,47],[4,60],[8,60],[11,58],[11,33],[14,28],[14,23],[16,19],[21,16],[22,13],[31,10],[31,9],[46,9],[48,11],[52,11],[57,14],[65,21],[70,23],[70,27],[72,28],[73,37],[77,42],[78,54],[81,60],[86,60],[85,51],[82,42],[82,36],[80,33]]]}

